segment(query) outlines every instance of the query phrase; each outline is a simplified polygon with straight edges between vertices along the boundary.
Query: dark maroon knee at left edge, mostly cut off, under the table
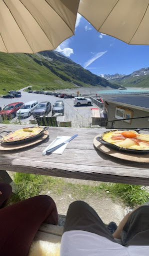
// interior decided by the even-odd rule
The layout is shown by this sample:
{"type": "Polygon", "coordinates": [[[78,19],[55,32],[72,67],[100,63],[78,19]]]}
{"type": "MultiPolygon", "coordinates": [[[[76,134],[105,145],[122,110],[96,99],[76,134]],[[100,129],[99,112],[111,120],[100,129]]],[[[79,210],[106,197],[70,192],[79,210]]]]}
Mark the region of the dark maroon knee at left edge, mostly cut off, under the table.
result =
{"type": "Polygon", "coordinates": [[[0,183],[0,191],[0,208],[3,208],[12,193],[12,188],[9,184],[0,183]]]}

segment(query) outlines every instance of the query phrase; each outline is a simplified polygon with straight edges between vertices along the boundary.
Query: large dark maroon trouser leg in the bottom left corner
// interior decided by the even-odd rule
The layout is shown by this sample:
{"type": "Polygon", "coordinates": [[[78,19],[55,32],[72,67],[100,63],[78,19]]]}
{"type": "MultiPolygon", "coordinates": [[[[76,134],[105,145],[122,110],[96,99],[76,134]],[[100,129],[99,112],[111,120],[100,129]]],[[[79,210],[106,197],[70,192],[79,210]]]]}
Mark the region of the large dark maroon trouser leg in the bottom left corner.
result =
{"type": "Polygon", "coordinates": [[[41,223],[57,225],[54,201],[36,196],[0,209],[0,255],[27,256],[41,223]]]}

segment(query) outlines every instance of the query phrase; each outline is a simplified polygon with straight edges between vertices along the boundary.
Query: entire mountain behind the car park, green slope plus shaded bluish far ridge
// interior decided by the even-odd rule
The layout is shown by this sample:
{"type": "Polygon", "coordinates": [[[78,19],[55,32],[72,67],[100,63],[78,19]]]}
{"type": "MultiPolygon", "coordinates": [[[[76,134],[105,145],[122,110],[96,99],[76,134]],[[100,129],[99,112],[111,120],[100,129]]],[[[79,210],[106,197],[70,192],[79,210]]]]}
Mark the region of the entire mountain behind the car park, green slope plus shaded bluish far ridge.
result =
{"type": "Polygon", "coordinates": [[[76,86],[118,87],[55,51],[42,54],[47,56],[0,53],[0,94],[30,85],[36,90],[76,86]]]}

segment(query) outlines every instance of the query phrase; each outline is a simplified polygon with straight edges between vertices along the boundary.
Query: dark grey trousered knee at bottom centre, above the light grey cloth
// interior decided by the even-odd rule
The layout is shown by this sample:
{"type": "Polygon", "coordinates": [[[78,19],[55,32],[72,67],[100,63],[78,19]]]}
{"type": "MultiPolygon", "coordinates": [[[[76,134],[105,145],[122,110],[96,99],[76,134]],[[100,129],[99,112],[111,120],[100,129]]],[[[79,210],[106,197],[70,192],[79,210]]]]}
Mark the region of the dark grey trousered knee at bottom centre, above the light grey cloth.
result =
{"type": "Polygon", "coordinates": [[[73,202],[68,208],[63,232],[70,230],[88,231],[115,242],[95,210],[83,201],[73,202]]]}

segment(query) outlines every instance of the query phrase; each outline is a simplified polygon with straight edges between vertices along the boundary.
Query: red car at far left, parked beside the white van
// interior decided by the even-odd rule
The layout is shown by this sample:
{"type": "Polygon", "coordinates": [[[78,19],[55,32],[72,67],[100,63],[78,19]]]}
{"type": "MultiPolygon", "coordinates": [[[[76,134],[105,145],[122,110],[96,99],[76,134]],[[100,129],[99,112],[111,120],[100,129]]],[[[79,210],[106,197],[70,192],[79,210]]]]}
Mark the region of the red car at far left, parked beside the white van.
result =
{"type": "Polygon", "coordinates": [[[6,105],[1,111],[0,114],[2,117],[12,117],[14,118],[16,111],[23,105],[23,102],[14,102],[6,105]]]}

